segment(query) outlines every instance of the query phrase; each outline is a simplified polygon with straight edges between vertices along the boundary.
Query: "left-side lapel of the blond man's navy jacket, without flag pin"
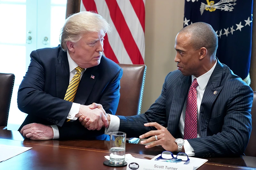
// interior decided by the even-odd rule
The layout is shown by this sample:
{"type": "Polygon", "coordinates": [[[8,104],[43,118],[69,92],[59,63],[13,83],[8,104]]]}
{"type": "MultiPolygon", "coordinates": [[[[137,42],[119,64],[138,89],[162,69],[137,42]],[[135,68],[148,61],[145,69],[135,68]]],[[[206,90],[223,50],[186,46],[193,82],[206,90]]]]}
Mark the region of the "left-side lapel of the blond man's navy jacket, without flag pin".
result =
{"type": "Polygon", "coordinates": [[[69,85],[69,64],[67,52],[59,51],[59,64],[55,65],[56,69],[56,97],[64,99],[69,85]]]}

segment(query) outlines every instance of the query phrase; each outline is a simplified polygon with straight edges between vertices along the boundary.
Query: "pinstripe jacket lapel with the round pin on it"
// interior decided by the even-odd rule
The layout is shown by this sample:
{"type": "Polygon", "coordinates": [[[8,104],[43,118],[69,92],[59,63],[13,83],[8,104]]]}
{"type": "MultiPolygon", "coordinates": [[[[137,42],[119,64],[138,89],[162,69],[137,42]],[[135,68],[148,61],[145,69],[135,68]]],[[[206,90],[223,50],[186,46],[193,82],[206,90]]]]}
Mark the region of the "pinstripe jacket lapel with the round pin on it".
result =
{"type": "Polygon", "coordinates": [[[223,86],[220,86],[222,74],[223,66],[217,59],[216,67],[213,70],[212,75],[206,85],[204,96],[200,106],[199,127],[201,137],[207,136],[207,128],[211,116],[212,105],[223,88],[223,86]]]}

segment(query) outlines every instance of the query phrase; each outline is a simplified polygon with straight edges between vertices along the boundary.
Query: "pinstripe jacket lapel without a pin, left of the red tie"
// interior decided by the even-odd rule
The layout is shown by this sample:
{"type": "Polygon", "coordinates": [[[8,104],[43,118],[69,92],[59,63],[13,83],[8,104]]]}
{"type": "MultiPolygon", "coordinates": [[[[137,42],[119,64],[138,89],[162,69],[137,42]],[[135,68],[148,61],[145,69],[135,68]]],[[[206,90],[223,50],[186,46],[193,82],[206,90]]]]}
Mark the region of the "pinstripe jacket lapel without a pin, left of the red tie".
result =
{"type": "Polygon", "coordinates": [[[173,93],[167,129],[174,136],[176,136],[176,132],[179,127],[182,108],[187,98],[190,85],[191,76],[182,76],[178,79],[178,83],[173,93]]]}

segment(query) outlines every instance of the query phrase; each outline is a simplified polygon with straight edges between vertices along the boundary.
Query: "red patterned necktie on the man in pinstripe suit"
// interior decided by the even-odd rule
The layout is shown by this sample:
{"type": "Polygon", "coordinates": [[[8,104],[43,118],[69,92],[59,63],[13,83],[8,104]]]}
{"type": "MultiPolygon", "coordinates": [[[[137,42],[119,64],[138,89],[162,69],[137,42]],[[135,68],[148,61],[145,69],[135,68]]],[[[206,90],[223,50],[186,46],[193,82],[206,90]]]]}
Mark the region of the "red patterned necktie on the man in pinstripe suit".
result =
{"type": "Polygon", "coordinates": [[[184,139],[193,139],[197,137],[196,86],[198,86],[198,83],[195,78],[188,92],[184,126],[184,139]]]}

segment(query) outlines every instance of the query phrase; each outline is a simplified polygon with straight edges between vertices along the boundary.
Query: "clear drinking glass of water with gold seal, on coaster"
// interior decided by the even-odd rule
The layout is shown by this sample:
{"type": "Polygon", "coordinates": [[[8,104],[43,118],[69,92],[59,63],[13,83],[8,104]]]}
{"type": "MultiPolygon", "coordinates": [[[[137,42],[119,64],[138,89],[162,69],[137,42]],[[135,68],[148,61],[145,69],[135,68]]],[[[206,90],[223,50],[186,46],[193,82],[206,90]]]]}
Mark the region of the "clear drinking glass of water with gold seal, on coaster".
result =
{"type": "Polygon", "coordinates": [[[110,133],[110,164],[122,165],[125,159],[125,143],[126,133],[111,132],[110,133]]]}

